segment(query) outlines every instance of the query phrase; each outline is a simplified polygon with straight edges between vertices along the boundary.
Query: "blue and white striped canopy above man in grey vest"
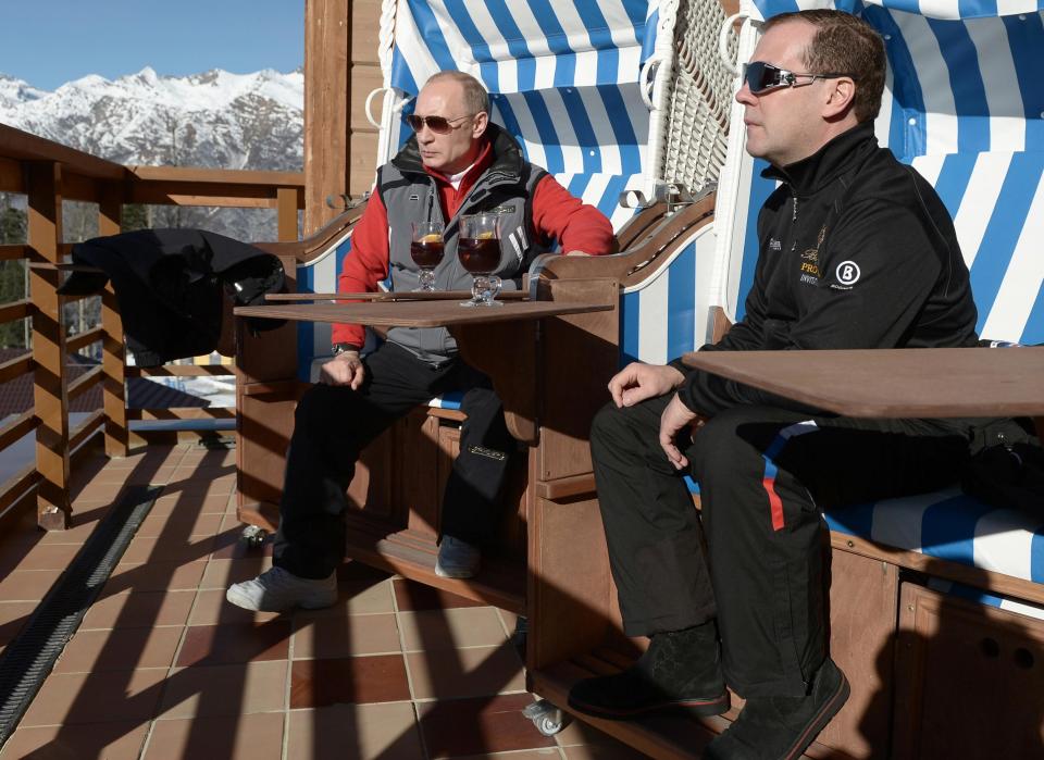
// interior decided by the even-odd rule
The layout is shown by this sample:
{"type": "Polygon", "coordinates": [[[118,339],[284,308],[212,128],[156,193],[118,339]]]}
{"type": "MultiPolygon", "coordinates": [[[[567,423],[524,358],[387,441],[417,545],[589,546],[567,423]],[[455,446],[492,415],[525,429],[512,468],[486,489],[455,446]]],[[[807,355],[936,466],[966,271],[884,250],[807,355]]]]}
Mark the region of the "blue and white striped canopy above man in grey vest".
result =
{"type": "MultiPolygon", "coordinates": [[[[400,0],[389,85],[413,97],[438,71],[472,74],[490,92],[492,120],[526,158],[619,225],[630,216],[619,194],[641,185],[647,164],[638,75],[656,9],[648,0],[400,0]]],[[[410,132],[395,126],[401,145],[410,132]]]]}

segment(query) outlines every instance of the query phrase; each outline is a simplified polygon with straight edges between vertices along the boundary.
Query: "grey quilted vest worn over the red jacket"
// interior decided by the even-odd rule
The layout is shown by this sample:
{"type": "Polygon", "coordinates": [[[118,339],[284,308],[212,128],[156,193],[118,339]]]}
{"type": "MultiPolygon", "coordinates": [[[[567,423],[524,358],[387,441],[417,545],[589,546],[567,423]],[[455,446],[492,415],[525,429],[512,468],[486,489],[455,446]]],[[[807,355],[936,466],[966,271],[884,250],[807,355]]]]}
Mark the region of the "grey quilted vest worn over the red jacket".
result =
{"type": "MultiPolygon", "coordinates": [[[[494,274],[505,290],[517,290],[530,262],[548,250],[536,240],[532,198],[545,172],[522,158],[518,142],[496,124],[486,135],[493,141],[493,163],[478,177],[451,219],[444,219],[435,178],[424,171],[417,137],[411,137],[391,161],[377,171],[377,192],[388,213],[391,290],[413,290],[420,270],[410,257],[412,222],[442,222],[445,256],[435,270],[438,290],[470,290],[472,277],[457,259],[458,221],[462,214],[493,208],[510,209],[501,224],[500,265],[494,274]]],[[[457,341],[445,327],[393,327],[388,340],[424,361],[440,364],[457,352],[457,341]]]]}

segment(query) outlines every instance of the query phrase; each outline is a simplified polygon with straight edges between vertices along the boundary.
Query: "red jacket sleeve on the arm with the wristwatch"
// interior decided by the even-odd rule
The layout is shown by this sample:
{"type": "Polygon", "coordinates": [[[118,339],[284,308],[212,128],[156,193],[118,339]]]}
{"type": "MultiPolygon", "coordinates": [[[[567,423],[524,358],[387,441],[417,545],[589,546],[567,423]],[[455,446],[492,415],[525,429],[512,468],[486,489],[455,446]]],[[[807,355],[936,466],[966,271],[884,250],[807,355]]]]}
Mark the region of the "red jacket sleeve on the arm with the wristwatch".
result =
{"type": "MultiPolygon", "coordinates": [[[[374,292],[377,283],[388,276],[388,212],[374,192],[362,219],[351,233],[351,251],[345,257],[337,292],[374,292]]],[[[335,324],[331,331],[335,344],[362,346],[366,329],[362,325],[335,324]]]]}

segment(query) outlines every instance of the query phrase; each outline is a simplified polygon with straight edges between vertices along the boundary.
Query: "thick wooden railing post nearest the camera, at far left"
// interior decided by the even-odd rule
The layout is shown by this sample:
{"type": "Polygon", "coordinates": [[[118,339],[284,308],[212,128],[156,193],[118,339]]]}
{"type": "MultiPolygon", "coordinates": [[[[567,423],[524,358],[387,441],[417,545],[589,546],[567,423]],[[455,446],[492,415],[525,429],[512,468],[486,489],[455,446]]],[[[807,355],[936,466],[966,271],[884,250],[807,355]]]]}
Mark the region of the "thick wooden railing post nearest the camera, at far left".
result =
{"type": "MultiPolygon", "coordinates": [[[[30,163],[28,242],[37,260],[60,263],[62,240],[62,170],[51,162],[30,163]]],[[[33,315],[33,388],[36,416],[36,469],[41,479],[36,497],[37,524],[47,531],[69,526],[69,390],[65,382],[65,320],[58,296],[57,270],[30,269],[33,315]]]]}

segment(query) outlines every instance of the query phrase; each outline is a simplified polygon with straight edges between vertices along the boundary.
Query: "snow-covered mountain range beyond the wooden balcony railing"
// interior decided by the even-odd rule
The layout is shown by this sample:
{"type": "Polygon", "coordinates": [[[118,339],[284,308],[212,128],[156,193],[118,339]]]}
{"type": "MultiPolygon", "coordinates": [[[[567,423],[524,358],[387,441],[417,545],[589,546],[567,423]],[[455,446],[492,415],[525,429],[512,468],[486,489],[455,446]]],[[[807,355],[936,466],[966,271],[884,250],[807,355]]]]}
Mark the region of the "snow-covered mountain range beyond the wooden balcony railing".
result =
{"type": "MultiPolygon", "coordinates": [[[[160,76],[146,67],[115,80],[85,76],[54,91],[0,74],[0,122],[127,165],[301,171],[303,101],[301,70],[160,76]]],[[[157,212],[156,226],[274,236],[274,219],[263,212],[183,209],[163,219],[170,211],[157,212]]]]}

